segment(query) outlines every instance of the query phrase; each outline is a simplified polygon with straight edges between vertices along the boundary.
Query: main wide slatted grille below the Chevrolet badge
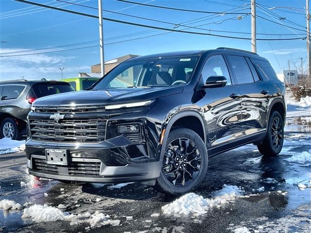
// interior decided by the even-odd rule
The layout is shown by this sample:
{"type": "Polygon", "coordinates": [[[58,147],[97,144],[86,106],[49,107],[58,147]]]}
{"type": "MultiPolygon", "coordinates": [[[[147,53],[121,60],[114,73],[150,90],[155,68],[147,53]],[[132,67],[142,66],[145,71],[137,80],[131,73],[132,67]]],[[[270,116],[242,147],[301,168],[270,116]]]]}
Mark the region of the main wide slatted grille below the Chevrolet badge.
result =
{"type": "Polygon", "coordinates": [[[30,120],[33,140],[45,142],[102,142],[105,139],[105,119],[30,120]]]}

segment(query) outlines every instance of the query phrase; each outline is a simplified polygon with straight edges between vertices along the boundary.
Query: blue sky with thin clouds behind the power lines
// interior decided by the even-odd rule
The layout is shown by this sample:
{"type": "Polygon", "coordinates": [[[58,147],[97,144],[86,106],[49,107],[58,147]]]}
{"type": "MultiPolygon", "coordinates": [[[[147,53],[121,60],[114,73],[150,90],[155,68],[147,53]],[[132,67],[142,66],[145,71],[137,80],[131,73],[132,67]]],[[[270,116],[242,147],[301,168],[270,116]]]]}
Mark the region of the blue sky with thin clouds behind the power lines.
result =
{"type": "MultiPolygon", "coordinates": [[[[91,15],[98,15],[97,9],[77,6],[57,0],[30,1],[91,15]]],[[[95,8],[98,7],[98,0],[65,1],[95,8]]],[[[215,16],[207,13],[148,7],[117,0],[103,0],[103,9],[170,22],[175,25],[184,25],[186,24],[185,22],[190,21],[187,23],[188,28],[180,25],[175,26],[176,30],[250,38],[250,34],[242,34],[251,32],[251,16],[245,15],[245,13],[250,13],[250,5],[246,5],[250,3],[250,0],[132,1],[198,11],[236,11],[236,13],[240,14],[218,14],[215,16]],[[241,7],[238,8],[239,6],[241,7]],[[189,28],[189,26],[200,29],[189,28]],[[234,33],[211,32],[208,30],[230,31],[234,33]]],[[[303,31],[305,30],[306,17],[303,11],[306,1],[257,0],[257,3],[259,3],[260,6],[260,8],[257,7],[257,14],[259,16],[257,17],[257,33],[289,34],[258,34],[257,38],[300,38],[286,41],[258,40],[257,53],[267,58],[278,74],[282,73],[283,69],[288,69],[289,60],[291,69],[296,69],[295,67],[299,69],[301,67],[300,58],[303,58],[303,67],[305,69],[307,65],[306,40],[301,38],[305,37],[305,35],[303,35],[305,32],[303,31]],[[281,7],[269,10],[269,7],[277,6],[281,7]],[[284,7],[295,7],[296,10],[284,7]],[[280,17],[285,17],[286,19],[280,20],[280,17]],[[293,28],[283,26],[282,24],[293,28]]],[[[164,22],[155,22],[109,12],[104,12],[104,17],[156,27],[174,27],[174,25],[164,22]]],[[[57,80],[61,78],[61,71],[59,68],[62,67],[64,67],[64,78],[77,77],[79,72],[90,72],[90,66],[100,62],[98,25],[99,21],[97,18],[41,8],[14,0],[0,0],[0,80],[20,79],[21,77],[27,80],[41,78],[57,80]],[[82,47],[90,48],[77,49],[82,47]]],[[[126,54],[147,55],[179,50],[208,50],[218,47],[251,50],[250,40],[177,32],[166,33],[166,31],[106,20],[104,20],[104,44],[105,61],[126,54]],[[163,34],[156,35],[160,33],[163,34]],[[137,39],[139,37],[145,38],[137,39]],[[122,42],[124,40],[130,41],[122,42]]]]}

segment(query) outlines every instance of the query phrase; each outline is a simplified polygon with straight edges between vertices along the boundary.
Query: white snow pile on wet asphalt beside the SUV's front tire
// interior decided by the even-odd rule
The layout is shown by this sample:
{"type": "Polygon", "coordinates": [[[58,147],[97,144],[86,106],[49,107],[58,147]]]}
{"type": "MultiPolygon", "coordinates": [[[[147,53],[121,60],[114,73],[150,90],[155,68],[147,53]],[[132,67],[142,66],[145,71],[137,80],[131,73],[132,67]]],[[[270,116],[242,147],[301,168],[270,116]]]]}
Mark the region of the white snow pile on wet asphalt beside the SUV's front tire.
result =
{"type": "Polygon", "coordinates": [[[242,194],[242,190],[237,186],[224,185],[224,188],[214,193],[213,199],[204,199],[202,196],[194,193],[188,193],[179,199],[164,205],[162,211],[164,214],[185,214],[194,213],[203,215],[207,210],[213,207],[221,207],[221,205],[235,200],[237,196],[242,194]]]}

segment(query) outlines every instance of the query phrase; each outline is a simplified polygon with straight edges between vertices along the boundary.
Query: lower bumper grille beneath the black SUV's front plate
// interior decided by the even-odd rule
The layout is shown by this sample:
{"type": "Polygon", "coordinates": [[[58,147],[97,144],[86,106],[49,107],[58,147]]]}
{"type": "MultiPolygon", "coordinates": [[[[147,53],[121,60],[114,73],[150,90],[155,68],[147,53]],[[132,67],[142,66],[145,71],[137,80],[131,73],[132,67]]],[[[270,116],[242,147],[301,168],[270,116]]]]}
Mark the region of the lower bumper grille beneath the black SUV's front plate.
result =
{"type": "Polygon", "coordinates": [[[46,159],[32,158],[33,169],[38,171],[48,171],[58,173],[61,167],[68,168],[69,175],[89,175],[99,176],[101,163],[100,162],[76,162],[72,161],[69,166],[47,164],[46,159]]]}

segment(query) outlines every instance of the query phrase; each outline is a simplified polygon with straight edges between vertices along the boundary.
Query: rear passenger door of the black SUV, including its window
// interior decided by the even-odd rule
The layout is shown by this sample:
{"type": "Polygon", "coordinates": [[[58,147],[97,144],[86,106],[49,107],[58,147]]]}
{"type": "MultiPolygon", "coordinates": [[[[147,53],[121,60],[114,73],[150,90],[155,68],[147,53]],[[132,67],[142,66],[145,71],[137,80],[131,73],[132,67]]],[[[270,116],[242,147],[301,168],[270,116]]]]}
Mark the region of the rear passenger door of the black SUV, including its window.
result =
{"type": "Polygon", "coordinates": [[[266,129],[269,89],[248,57],[228,55],[235,81],[241,93],[242,129],[246,135],[266,129]]]}

